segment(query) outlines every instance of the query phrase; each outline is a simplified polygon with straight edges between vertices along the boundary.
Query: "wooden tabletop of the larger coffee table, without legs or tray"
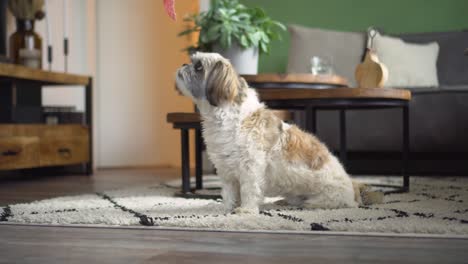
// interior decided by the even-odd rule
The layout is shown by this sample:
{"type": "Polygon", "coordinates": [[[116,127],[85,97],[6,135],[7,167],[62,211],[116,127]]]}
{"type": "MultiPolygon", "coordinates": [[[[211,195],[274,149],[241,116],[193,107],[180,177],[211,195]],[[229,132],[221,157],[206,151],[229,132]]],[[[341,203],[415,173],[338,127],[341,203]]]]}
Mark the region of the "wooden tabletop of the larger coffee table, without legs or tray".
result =
{"type": "Polygon", "coordinates": [[[257,89],[260,99],[299,100],[299,99],[398,99],[411,100],[411,92],[405,89],[389,88],[330,88],[330,89],[257,89]]]}

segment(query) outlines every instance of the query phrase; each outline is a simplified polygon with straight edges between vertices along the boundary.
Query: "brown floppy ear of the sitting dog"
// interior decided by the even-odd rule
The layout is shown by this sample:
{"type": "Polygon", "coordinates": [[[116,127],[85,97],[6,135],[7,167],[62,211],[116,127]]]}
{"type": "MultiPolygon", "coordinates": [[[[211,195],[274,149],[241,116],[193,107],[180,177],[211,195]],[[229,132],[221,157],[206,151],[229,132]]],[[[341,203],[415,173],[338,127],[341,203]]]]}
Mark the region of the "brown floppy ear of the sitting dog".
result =
{"type": "Polygon", "coordinates": [[[218,61],[209,73],[206,82],[206,98],[213,106],[233,102],[238,94],[239,79],[232,66],[218,61]]]}

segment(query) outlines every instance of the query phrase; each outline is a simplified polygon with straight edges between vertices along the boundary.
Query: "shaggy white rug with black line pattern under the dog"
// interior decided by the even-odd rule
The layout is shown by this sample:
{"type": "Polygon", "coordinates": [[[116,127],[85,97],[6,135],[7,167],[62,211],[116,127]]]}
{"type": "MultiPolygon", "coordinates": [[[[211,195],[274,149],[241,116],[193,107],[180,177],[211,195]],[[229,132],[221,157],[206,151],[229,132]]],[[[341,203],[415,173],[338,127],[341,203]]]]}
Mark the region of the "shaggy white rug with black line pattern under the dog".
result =
{"type": "MultiPolygon", "coordinates": [[[[217,184],[210,177],[205,180],[205,186],[217,184]]],[[[174,197],[178,189],[164,184],[14,204],[0,209],[0,222],[468,235],[468,179],[461,177],[412,177],[410,193],[389,194],[383,204],[355,209],[281,207],[267,198],[260,214],[241,215],[226,214],[220,200],[174,197]]]]}

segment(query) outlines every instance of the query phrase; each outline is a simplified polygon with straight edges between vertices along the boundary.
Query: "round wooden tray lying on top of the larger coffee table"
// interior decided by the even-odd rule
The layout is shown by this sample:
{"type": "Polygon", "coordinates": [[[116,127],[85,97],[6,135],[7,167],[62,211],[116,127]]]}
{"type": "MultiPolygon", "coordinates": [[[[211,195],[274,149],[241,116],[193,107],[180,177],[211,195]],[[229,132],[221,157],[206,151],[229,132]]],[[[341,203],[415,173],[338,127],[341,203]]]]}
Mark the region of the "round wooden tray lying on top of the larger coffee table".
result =
{"type": "Polygon", "coordinates": [[[313,75],[309,73],[261,73],[241,75],[249,83],[317,83],[347,86],[348,81],[338,75],[313,75]]]}

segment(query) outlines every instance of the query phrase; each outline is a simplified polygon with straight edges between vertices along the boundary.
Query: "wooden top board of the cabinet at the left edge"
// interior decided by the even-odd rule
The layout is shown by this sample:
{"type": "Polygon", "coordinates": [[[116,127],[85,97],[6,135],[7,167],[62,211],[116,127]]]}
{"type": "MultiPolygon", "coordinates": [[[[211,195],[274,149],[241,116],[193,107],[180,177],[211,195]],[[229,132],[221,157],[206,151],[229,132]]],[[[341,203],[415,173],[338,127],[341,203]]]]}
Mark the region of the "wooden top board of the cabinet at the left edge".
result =
{"type": "Polygon", "coordinates": [[[37,81],[44,85],[88,85],[90,76],[44,71],[21,65],[0,63],[0,78],[37,81]]]}

